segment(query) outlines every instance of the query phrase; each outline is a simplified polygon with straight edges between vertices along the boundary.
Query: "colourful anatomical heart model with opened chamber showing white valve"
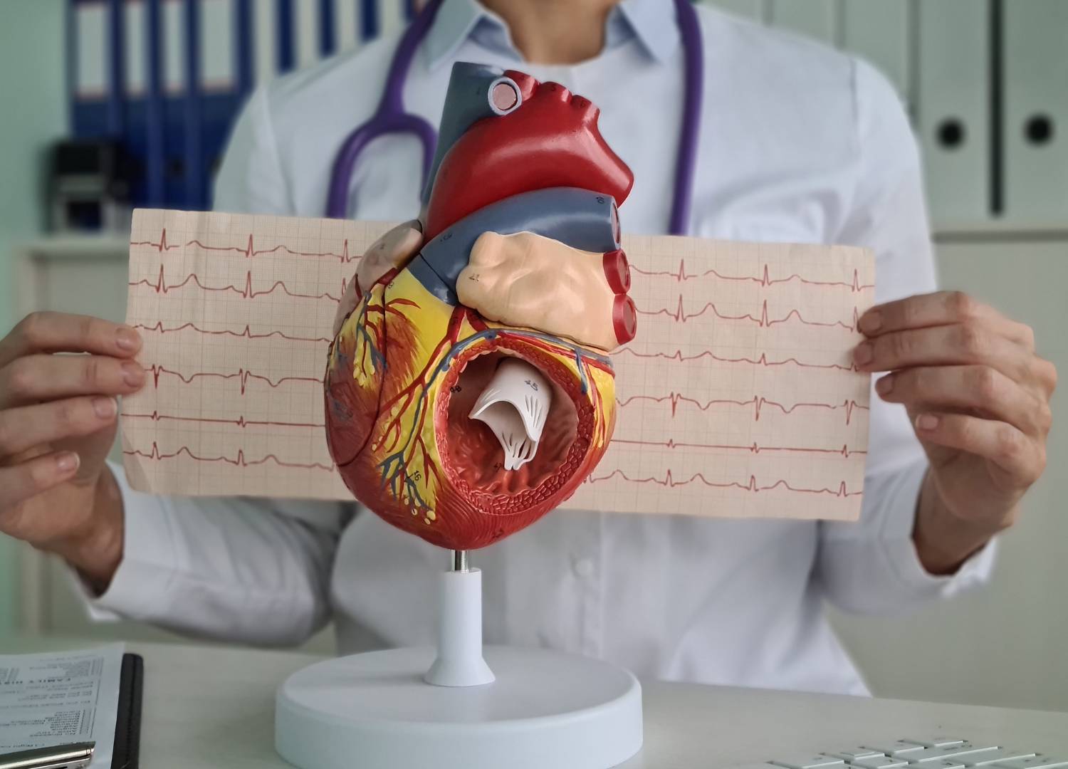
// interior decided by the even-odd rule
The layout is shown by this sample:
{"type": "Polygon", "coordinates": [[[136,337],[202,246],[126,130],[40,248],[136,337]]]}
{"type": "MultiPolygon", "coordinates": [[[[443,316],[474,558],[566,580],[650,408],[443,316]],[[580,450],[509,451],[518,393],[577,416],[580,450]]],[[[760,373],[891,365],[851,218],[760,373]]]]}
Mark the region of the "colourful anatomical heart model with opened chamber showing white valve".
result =
{"type": "Polygon", "coordinates": [[[435,545],[530,525],[612,437],[633,177],[597,114],[556,83],[455,65],[424,213],[361,261],[327,363],[330,452],[358,500],[435,545]]]}

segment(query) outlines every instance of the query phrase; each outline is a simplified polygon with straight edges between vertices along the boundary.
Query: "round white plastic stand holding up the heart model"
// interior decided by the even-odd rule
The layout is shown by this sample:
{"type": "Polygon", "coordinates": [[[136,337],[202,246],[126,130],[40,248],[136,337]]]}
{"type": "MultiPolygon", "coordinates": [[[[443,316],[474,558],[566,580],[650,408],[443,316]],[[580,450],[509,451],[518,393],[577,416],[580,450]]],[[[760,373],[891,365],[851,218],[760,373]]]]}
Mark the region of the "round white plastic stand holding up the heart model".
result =
{"type": "Polygon", "coordinates": [[[629,672],[540,648],[482,647],[482,574],[439,578],[438,649],[342,657],[278,691],[274,744],[301,769],[608,769],[642,747],[629,672]],[[496,676],[496,677],[494,677],[496,676]]]}

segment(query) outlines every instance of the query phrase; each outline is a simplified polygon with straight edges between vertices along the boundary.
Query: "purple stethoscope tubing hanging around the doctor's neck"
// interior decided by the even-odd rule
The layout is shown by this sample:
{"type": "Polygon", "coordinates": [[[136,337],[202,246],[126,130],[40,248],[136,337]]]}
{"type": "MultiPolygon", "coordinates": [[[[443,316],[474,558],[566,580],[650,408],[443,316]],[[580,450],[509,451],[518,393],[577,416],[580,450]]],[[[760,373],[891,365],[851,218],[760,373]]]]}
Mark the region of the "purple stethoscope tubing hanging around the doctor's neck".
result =
{"type": "MultiPolygon", "coordinates": [[[[434,126],[419,115],[406,112],[404,108],[404,83],[415,57],[415,49],[426,37],[434,18],[443,0],[430,0],[414,18],[393,53],[390,72],[386,78],[386,90],[378,103],[378,109],[363,125],[345,139],[330,174],[330,193],[327,199],[327,216],[344,219],[348,208],[348,185],[364,148],[372,140],[387,134],[412,134],[423,146],[423,176],[429,173],[434,162],[434,152],[438,144],[438,132],[434,126]]],[[[693,168],[697,155],[697,130],[701,125],[701,103],[704,94],[704,48],[697,12],[690,0],[674,0],[678,30],[682,38],[686,59],[686,99],[682,106],[682,127],[679,131],[678,156],[675,160],[675,194],[672,201],[672,235],[686,235],[690,221],[690,206],[693,201],[693,168]]]]}

